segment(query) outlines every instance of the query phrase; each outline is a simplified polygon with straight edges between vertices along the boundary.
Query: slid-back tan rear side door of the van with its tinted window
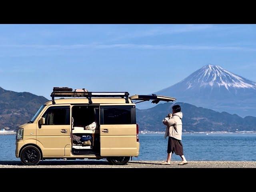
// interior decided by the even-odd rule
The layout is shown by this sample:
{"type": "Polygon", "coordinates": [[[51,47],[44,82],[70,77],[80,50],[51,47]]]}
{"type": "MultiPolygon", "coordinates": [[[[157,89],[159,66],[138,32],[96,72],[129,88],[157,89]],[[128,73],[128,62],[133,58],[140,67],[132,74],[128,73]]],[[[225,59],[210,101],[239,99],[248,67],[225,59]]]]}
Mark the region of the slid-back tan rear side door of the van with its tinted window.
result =
{"type": "Polygon", "coordinates": [[[100,105],[100,156],[136,156],[135,105],[100,105]]]}

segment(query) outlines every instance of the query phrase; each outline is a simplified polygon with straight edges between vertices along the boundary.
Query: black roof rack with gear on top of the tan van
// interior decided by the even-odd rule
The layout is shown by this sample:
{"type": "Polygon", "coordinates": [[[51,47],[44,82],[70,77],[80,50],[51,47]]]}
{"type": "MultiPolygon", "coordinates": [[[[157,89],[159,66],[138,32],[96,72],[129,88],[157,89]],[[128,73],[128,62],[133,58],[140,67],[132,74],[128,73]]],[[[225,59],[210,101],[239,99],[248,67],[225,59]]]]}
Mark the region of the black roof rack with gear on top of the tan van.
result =
{"type": "Polygon", "coordinates": [[[53,88],[51,93],[52,104],[55,104],[55,97],[85,97],[88,98],[89,104],[92,104],[92,98],[94,97],[121,97],[125,98],[126,103],[129,103],[129,93],[128,92],[88,92],[86,89],[74,90],[72,88],[53,88]]]}

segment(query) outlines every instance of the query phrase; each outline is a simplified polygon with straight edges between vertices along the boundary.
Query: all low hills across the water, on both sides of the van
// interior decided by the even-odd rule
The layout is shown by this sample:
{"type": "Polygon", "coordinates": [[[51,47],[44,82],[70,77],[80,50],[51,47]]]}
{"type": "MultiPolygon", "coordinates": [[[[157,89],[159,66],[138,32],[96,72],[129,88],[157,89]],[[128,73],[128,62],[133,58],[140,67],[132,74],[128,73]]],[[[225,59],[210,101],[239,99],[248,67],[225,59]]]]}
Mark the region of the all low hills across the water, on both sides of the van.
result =
{"type": "MultiPolygon", "coordinates": [[[[17,130],[18,126],[31,120],[38,108],[48,99],[28,92],[14,92],[0,88],[0,129],[9,127],[17,130]]],[[[241,118],[226,112],[196,107],[187,103],[176,103],[182,107],[184,115],[183,129],[186,131],[242,131],[256,130],[256,117],[241,118]]],[[[140,130],[165,130],[162,119],[172,112],[173,103],[158,104],[153,108],[136,109],[137,123],[140,130]]]]}

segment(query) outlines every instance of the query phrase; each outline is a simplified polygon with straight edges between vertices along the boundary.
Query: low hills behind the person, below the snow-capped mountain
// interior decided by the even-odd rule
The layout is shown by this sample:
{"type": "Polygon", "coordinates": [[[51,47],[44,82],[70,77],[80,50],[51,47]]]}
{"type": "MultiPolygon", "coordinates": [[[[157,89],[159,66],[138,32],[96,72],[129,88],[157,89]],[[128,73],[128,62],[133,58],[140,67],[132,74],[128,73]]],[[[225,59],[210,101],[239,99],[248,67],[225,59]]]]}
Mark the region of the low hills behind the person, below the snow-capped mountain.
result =
{"type": "MultiPolygon", "coordinates": [[[[211,109],[196,107],[188,103],[177,102],[182,108],[184,131],[256,131],[256,117],[242,118],[236,114],[216,112],[211,109]]],[[[165,131],[162,120],[172,113],[173,103],[158,104],[150,109],[136,109],[137,123],[140,130],[165,131]]]]}

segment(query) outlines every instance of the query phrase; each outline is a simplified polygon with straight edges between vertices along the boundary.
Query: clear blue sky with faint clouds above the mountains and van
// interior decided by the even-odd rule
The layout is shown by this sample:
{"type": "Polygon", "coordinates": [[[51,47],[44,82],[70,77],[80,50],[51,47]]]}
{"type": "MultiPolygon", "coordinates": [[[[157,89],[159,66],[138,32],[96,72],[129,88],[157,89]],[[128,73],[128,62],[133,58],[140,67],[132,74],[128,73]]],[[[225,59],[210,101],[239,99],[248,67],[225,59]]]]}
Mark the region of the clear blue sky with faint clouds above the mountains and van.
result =
{"type": "Polygon", "coordinates": [[[149,94],[204,65],[256,82],[256,25],[0,25],[0,87],[149,94]]]}

